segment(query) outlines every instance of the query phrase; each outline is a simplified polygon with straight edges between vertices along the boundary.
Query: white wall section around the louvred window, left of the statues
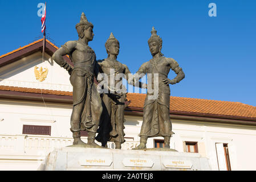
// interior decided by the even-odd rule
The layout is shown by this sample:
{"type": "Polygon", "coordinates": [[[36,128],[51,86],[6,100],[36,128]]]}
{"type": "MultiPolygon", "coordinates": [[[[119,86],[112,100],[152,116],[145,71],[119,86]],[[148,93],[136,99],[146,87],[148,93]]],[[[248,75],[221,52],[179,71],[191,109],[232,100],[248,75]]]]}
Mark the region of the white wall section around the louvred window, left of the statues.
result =
{"type": "Polygon", "coordinates": [[[23,125],[51,126],[51,137],[72,137],[72,105],[0,100],[0,134],[22,134],[23,125]]]}

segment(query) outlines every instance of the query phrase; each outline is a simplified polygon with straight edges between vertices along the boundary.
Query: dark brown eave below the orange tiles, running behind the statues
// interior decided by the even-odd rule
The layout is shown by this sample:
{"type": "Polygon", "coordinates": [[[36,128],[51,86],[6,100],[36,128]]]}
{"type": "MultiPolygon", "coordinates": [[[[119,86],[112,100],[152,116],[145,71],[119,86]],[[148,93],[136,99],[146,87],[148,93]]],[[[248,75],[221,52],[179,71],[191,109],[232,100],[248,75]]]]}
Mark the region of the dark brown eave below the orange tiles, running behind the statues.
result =
{"type": "MultiPolygon", "coordinates": [[[[62,103],[62,104],[73,103],[72,96],[43,94],[43,93],[42,94],[28,93],[28,92],[7,91],[7,90],[0,90],[0,98],[9,99],[9,100],[21,100],[21,101],[53,102],[53,103],[62,103]]],[[[128,106],[127,108],[125,108],[124,114],[143,117],[143,107],[128,106]]],[[[172,110],[170,110],[170,119],[181,119],[184,121],[200,121],[200,122],[206,122],[206,123],[218,122],[218,123],[230,123],[230,124],[256,126],[256,118],[191,113],[191,112],[172,111],[172,110]]]]}

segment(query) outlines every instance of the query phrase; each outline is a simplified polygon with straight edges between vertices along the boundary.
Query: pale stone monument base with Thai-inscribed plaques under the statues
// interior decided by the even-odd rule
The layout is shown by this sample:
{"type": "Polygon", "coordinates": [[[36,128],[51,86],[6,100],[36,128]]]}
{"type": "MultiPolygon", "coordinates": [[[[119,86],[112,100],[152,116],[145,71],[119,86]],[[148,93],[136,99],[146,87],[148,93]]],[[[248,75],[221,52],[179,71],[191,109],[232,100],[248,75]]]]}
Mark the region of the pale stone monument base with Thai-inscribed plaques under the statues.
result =
{"type": "Polygon", "coordinates": [[[38,170],[210,170],[200,154],[172,150],[113,150],[63,147],[52,151],[38,170]]]}

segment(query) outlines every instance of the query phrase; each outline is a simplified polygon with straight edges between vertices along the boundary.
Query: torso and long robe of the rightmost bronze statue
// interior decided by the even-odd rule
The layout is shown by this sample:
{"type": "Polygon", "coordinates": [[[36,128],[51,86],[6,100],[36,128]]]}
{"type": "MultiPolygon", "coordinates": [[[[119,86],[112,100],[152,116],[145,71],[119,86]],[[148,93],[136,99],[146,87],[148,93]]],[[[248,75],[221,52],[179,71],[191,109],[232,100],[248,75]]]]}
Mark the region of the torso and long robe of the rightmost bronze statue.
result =
{"type": "MultiPolygon", "coordinates": [[[[138,74],[152,74],[152,89],[159,86],[159,94],[152,98],[153,93],[147,93],[143,109],[143,124],[139,136],[147,137],[171,137],[172,123],[170,122],[170,87],[162,81],[168,77],[170,69],[174,70],[178,67],[177,61],[167,57],[159,57],[151,59],[141,65],[138,74]],[[159,85],[154,82],[154,73],[159,74],[159,85]]],[[[180,81],[180,80],[178,80],[180,81]]],[[[149,82],[148,82],[149,86],[149,82]]],[[[149,89],[149,87],[148,87],[149,89]]]]}

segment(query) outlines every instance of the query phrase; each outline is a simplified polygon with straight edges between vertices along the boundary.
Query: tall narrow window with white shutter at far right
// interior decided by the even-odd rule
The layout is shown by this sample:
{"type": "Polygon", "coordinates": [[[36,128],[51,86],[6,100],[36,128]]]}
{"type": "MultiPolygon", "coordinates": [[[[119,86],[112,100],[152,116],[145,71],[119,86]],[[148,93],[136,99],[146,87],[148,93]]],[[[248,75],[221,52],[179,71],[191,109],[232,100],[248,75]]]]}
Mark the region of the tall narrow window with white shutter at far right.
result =
{"type": "Polygon", "coordinates": [[[227,143],[216,143],[218,167],[220,171],[231,171],[229,148],[227,143]]]}

